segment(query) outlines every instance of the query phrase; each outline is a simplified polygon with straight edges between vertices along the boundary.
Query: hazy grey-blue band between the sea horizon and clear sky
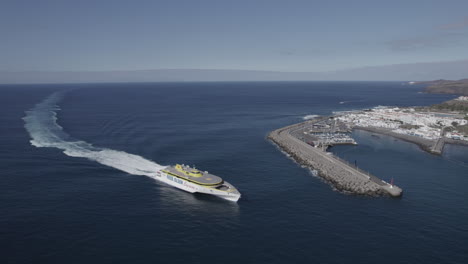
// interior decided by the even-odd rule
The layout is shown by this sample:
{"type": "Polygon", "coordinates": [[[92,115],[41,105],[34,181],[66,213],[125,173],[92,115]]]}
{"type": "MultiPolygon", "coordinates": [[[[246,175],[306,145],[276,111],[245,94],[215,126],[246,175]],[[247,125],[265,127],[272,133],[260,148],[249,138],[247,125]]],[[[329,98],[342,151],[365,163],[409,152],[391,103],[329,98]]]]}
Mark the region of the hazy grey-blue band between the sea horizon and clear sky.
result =
{"type": "Polygon", "coordinates": [[[100,71],[0,71],[2,84],[219,82],[219,81],[430,81],[468,77],[468,59],[356,67],[335,71],[242,69],[142,69],[100,71]]]}

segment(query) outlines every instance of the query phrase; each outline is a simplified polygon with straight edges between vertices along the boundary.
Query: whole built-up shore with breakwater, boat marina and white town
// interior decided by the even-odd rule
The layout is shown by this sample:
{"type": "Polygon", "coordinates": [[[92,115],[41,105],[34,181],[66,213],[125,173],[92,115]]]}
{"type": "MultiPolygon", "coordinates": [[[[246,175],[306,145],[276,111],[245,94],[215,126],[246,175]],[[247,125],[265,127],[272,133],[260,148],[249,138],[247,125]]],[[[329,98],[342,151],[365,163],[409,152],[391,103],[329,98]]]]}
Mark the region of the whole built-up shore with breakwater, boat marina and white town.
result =
{"type": "MultiPolygon", "coordinates": [[[[464,97],[455,100],[468,101],[464,97]]],[[[452,111],[447,114],[417,112],[411,107],[375,107],[350,111],[343,115],[314,115],[312,119],[271,131],[267,138],[297,164],[316,170],[320,178],[338,191],[399,197],[403,191],[393,185],[393,179],[391,183],[387,183],[358,168],[356,164],[350,164],[327,152],[327,148],[338,144],[355,145],[356,142],[349,136],[349,132],[362,130],[390,136],[415,144],[430,154],[442,155],[445,144],[468,146],[466,134],[452,130],[458,126],[466,127],[466,120],[463,112],[452,111]],[[446,132],[448,128],[451,129],[446,132]],[[446,133],[452,131],[455,136],[446,136],[446,133]],[[457,140],[456,137],[463,138],[457,140]]]]}

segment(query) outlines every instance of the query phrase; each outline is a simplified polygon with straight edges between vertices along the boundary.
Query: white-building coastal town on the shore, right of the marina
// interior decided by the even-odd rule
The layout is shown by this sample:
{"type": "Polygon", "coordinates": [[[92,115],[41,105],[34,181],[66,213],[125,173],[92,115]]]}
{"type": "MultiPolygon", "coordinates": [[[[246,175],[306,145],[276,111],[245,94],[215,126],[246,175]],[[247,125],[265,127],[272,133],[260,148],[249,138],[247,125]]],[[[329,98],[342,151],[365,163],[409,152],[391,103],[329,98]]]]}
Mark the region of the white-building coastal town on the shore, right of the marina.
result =
{"type": "MultiPolygon", "coordinates": [[[[465,102],[459,97],[450,102],[465,102]]],[[[441,155],[446,143],[468,144],[468,119],[464,112],[435,112],[432,108],[383,107],[342,112],[335,122],[347,129],[361,129],[385,134],[419,145],[423,150],[441,155]]]]}

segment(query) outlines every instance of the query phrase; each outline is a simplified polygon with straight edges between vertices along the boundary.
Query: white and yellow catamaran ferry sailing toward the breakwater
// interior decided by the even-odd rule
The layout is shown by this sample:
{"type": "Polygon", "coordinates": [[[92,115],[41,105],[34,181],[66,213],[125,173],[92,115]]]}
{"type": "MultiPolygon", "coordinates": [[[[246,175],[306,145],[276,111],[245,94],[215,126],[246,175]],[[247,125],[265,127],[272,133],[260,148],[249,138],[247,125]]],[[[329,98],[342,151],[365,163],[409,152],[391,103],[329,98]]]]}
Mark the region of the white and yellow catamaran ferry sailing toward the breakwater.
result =
{"type": "Polygon", "coordinates": [[[232,184],[207,171],[200,171],[187,165],[167,166],[156,172],[159,180],[190,193],[206,193],[237,202],[241,197],[232,184]]]}

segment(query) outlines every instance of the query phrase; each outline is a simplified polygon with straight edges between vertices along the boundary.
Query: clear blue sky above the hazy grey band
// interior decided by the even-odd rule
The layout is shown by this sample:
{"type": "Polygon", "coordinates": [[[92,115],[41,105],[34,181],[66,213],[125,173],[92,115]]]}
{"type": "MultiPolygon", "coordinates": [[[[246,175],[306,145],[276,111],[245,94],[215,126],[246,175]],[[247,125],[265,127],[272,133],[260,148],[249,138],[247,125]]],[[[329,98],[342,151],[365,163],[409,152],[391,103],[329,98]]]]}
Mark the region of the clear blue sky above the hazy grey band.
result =
{"type": "Polygon", "coordinates": [[[467,10],[466,0],[2,0],[0,71],[333,71],[466,60],[467,10]]]}

